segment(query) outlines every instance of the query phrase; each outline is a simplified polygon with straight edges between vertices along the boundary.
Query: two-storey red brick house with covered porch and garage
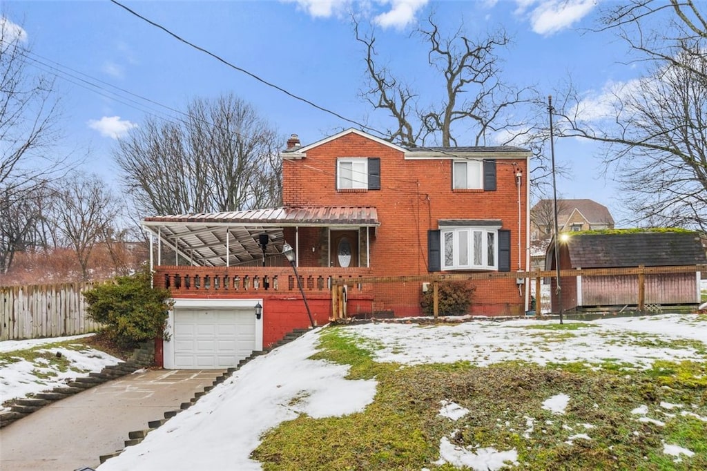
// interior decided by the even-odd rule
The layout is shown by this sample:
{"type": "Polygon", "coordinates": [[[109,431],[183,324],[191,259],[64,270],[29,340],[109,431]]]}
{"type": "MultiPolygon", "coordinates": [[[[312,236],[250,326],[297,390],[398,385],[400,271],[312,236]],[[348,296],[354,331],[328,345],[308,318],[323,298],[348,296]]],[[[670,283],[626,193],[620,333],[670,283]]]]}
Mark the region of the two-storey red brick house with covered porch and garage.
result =
{"type": "MultiPolygon", "coordinates": [[[[166,367],[231,366],[308,327],[284,243],[319,325],[332,313],[332,278],[351,279],[350,315],[401,317],[421,314],[422,282],[360,277],[529,267],[525,149],[405,148],[348,129],[307,146],[293,135],[281,157],[283,207],[143,221],[158,241],[155,284],[175,298],[166,367]]],[[[522,314],[527,303],[515,278],[484,279],[470,312],[522,314]]]]}

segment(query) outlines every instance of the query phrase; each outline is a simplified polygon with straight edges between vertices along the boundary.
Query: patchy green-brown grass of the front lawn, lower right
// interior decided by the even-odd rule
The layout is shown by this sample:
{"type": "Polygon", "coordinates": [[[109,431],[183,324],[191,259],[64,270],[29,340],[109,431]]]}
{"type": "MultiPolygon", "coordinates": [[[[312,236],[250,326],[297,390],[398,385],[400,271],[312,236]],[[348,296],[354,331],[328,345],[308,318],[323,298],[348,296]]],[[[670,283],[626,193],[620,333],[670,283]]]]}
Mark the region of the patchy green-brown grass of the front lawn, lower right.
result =
{"type": "MultiPolygon", "coordinates": [[[[559,335],[583,328],[550,326],[559,335]]],[[[697,347],[692,341],[661,342],[697,347]]],[[[321,347],[315,358],[350,365],[349,378],[378,380],[375,400],[363,412],[326,419],[301,415],[267,432],[252,455],[265,470],[457,469],[433,464],[443,438],[467,449],[514,449],[513,468],[520,470],[707,469],[703,363],[655,361],[648,370],[619,359],[545,367],[523,361],[484,368],[468,361],[379,364],[375,344],[345,327],[323,333],[321,347]],[[560,394],[570,397],[562,414],[544,408],[544,401],[560,394]],[[442,417],[443,400],[469,412],[456,421],[442,417]],[[666,445],[694,455],[677,460],[664,453],[666,445]]]]}

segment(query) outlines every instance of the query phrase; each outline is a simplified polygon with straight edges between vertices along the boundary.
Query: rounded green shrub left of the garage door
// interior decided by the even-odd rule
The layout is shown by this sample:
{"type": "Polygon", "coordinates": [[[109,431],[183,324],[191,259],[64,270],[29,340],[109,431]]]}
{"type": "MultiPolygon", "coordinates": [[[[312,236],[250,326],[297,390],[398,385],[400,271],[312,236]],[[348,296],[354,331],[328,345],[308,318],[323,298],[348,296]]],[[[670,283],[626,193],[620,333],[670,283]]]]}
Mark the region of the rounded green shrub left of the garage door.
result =
{"type": "Polygon", "coordinates": [[[136,347],[164,335],[171,295],[152,288],[151,277],[144,269],[83,293],[88,317],[105,325],[107,335],[121,347],[136,347]]]}

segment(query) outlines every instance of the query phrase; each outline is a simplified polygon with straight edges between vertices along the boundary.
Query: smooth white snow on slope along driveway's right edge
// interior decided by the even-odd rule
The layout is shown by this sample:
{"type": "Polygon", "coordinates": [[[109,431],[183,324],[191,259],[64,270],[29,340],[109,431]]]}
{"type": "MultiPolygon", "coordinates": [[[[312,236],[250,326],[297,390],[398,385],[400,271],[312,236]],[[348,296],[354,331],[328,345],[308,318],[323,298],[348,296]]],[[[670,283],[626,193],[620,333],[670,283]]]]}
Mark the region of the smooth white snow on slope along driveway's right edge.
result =
{"type": "Polygon", "coordinates": [[[319,330],[245,364],[185,412],[99,467],[110,470],[259,470],[260,436],[299,414],[332,417],[373,402],[375,380],[345,380],[349,366],[308,359],[319,330]]]}

